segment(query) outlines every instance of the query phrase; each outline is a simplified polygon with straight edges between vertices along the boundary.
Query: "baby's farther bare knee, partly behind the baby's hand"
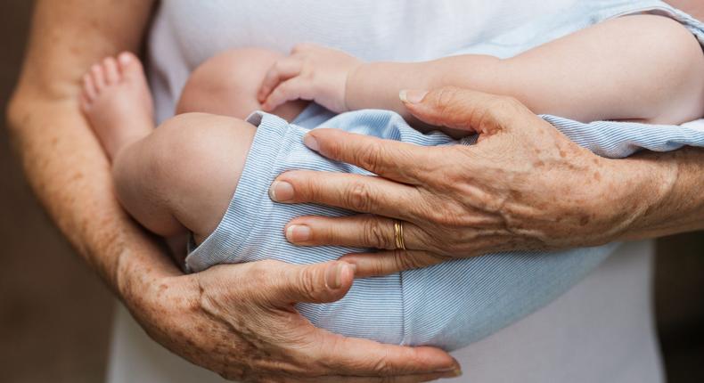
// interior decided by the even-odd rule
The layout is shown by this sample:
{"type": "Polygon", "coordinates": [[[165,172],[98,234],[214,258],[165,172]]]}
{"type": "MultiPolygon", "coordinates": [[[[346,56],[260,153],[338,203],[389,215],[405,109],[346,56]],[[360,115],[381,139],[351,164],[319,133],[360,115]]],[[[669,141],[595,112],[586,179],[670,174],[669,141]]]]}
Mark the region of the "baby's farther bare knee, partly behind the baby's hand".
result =
{"type": "MultiPolygon", "coordinates": [[[[247,118],[260,110],[257,92],[266,71],[282,57],[266,49],[242,48],[217,54],[193,70],[181,93],[176,113],[207,112],[247,118]]],[[[293,120],[308,102],[287,102],[274,114],[293,120]]]]}

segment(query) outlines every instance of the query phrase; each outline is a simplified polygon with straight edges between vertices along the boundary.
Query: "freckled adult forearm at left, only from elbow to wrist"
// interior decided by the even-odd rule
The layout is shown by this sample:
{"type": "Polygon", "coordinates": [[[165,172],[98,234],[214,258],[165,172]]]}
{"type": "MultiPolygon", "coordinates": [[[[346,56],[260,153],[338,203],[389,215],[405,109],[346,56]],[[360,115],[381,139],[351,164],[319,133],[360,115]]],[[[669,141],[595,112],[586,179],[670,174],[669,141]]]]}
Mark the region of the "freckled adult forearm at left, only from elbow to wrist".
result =
{"type": "Polygon", "coordinates": [[[31,102],[18,95],[9,111],[12,139],[38,200],[96,272],[119,289],[120,261],[167,257],[119,207],[107,160],[74,108],[69,100],[31,102]]]}

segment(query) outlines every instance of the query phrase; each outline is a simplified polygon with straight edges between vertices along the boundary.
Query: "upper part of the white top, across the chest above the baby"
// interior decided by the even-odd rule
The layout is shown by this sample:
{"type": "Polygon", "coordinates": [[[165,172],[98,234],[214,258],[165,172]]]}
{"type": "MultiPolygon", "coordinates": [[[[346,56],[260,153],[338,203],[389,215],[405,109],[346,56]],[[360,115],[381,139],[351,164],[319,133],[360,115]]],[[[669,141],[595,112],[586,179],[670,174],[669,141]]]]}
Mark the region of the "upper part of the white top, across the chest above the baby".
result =
{"type": "Polygon", "coordinates": [[[190,71],[226,49],[288,53],[309,42],[368,61],[431,60],[584,1],[593,0],[165,1],[149,41],[157,119],[172,116],[190,71]]]}

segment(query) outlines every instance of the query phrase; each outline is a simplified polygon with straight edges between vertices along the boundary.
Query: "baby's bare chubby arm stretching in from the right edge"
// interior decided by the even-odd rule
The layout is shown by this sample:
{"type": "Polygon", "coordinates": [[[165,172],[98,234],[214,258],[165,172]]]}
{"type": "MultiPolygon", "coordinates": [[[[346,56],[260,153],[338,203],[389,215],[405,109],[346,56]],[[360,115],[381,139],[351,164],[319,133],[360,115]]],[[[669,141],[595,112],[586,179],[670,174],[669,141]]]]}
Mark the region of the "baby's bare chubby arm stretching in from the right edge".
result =
{"type": "MultiPolygon", "coordinates": [[[[675,20],[654,15],[607,20],[507,60],[467,54],[418,63],[338,61],[345,65],[335,70],[348,70],[341,85],[345,110],[379,108],[405,114],[398,100],[401,89],[461,86],[511,95],[536,113],[582,121],[679,123],[704,115],[700,45],[675,20]]],[[[321,82],[339,76],[314,72],[307,77],[313,86],[300,90],[284,81],[282,92],[274,89],[270,98],[278,102],[291,94],[309,96],[334,110],[340,102],[326,100],[331,92],[322,91],[321,82]]],[[[339,80],[335,86],[340,86],[339,80]]],[[[264,94],[266,87],[265,81],[264,94]]]]}

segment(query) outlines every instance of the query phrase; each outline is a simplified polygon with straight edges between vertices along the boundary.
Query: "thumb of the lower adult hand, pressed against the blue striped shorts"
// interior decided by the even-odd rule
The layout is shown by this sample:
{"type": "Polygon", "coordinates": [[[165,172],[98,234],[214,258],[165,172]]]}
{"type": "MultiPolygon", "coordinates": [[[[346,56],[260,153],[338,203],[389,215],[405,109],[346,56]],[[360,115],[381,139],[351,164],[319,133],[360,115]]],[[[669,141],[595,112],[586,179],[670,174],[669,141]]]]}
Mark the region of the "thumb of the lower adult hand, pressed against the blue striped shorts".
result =
{"type": "Polygon", "coordinates": [[[332,261],[314,265],[277,263],[278,273],[267,291],[274,305],[291,306],[299,302],[326,303],[341,299],[352,287],[355,266],[332,261]]]}

